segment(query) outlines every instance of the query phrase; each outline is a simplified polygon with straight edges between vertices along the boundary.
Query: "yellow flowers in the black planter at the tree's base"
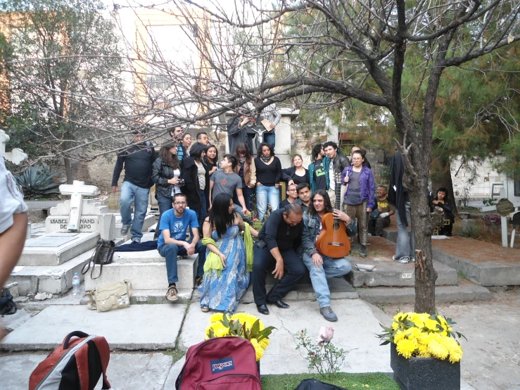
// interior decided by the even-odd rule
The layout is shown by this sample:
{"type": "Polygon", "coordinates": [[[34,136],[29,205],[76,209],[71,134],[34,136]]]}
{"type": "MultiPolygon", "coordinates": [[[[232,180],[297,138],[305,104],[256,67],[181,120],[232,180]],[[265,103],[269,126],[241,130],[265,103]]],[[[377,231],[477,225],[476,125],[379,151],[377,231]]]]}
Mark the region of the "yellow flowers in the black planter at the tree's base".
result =
{"type": "Polygon", "coordinates": [[[455,322],[451,318],[438,313],[397,313],[390,327],[381,325],[385,332],[377,336],[381,339],[381,345],[395,344],[399,355],[407,359],[417,356],[457,363],[462,358],[462,346],[455,340],[455,334],[464,336],[453,332],[453,324],[455,322]]]}

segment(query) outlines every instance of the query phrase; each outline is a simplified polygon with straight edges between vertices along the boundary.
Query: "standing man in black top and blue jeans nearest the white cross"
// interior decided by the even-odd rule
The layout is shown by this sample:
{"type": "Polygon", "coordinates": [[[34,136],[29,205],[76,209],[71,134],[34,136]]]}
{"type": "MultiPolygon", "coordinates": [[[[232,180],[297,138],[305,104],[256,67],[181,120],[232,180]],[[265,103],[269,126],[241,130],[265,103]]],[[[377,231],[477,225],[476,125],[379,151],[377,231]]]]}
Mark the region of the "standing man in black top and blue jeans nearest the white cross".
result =
{"type": "Polygon", "coordinates": [[[151,142],[141,142],[143,135],[134,132],[132,146],[118,153],[118,161],[115,163],[112,177],[112,189],[118,190],[118,180],[123,165],[125,166],[125,179],[121,186],[119,199],[121,213],[121,234],[127,234],[132,226],[132,242],[141,242],[144,217],[148,208],[148,195],[151,187],[151,173],[153,161],[156,160],[156,151],[151,142]],[[130,205],[134,202],[134,220],[130,205]]]}

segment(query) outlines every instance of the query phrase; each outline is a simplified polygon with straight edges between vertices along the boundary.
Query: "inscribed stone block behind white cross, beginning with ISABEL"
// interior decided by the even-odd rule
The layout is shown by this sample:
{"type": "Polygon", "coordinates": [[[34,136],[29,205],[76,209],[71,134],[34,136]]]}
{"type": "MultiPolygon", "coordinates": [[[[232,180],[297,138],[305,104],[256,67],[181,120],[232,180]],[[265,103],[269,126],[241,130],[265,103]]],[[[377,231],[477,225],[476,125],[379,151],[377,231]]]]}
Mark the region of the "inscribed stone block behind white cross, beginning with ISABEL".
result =
{"type": "MultiPolygon", "coordinates": [[[[70,202],[65,201],[51,208],[51,215],[45,220],[46,234],[70,232],[68,229],[72,211],[70,202]]],[[[77,232],[99,232],[102,239],[115,239],[115,215],[108,213],[108,206],[101,206],[101,203],[94,199],[82,199],[77,232]]]]}

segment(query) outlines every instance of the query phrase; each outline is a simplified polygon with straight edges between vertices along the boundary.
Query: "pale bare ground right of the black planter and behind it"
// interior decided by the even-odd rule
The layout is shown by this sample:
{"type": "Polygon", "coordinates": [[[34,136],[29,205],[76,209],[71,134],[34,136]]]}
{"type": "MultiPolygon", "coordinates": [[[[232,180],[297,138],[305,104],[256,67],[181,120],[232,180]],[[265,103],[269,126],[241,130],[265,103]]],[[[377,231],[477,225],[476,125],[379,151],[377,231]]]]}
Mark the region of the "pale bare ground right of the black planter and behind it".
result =
{"type": "MultiPolygon", "coordinates": [[[[455,331],[467,337],[462,377],[476,390],[520,389],[520,287],[490,288],[488,302],[438,305],[452,318],[455,331]]],[[[383,306],[384,313],[413,311],[413,306],[383,306]]]]}

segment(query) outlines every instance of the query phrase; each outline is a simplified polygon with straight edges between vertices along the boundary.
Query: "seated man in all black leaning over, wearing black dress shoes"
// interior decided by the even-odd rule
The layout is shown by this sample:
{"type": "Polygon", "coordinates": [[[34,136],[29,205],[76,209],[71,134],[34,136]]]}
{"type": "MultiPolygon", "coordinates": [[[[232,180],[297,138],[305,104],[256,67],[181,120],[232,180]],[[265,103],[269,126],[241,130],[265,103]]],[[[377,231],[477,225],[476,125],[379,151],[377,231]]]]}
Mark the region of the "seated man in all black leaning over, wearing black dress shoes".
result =
{"type": "Polygon", "coordinates": [[[258,233],[260,241],[253,248],[253,296],[261,314],[269,314],[267,303],[281,309],[289,308],[281,299],[305,275],[305,265],[297,253],[303,233],[302,218],[301,206],[288,204],[274,210],[258,233]],[[272,274],[279,282],[266,294],[265,279],[272,263],[276,263],[272,274]]]}

